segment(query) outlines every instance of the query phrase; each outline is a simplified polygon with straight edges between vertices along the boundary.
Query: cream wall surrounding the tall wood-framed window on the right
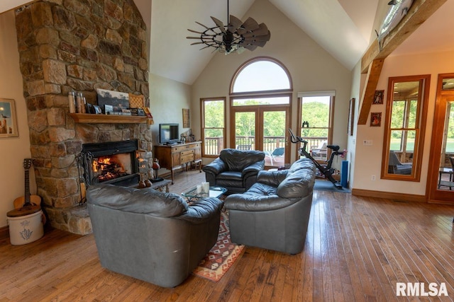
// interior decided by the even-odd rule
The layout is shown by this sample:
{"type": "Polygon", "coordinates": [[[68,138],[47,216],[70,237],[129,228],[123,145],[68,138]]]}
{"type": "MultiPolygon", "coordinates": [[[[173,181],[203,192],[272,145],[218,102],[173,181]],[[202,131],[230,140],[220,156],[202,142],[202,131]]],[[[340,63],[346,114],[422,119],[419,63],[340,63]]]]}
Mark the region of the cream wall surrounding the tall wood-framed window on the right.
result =
{"type": "MultiPolygon", "coordinates": [[[[386,95],[388,78],[390,76],[412,76],[431,74],[431,87],[429,91],[429,104],[427,112],[426,135],[423,145],[423,161],[421,167],[421,181],[408,182],[402,180],[380,180],[384,127],[370,127],[370,121],[358,126],[356,141],[371,139],[373,146],[357,144],[355,158],[355,183],[354,188],[362,190],[377,190],[384,192],[397,192],[404,194],[426,194],[428,176],[428,157],[431,146],[433,126],[433,113],[436,103],[436,85],[438,74],[454,71],[453,52],[440,52],[431,54],[414,54],[407,56],[391,56],[385,59],[377,90],[384,90],[385,100],[383,105],[372,105],[370,112],[383,112],[382,123],[385,118],[386,95]],[[371,175],[376,175],[377,180],[372,181],[371,175]]],[[[369,117],[370,118],[370,117],[369,117]]]]}

